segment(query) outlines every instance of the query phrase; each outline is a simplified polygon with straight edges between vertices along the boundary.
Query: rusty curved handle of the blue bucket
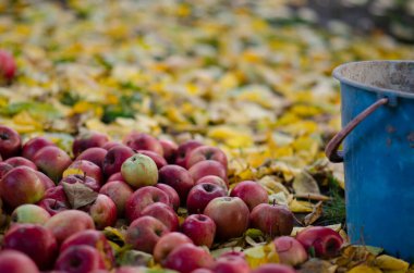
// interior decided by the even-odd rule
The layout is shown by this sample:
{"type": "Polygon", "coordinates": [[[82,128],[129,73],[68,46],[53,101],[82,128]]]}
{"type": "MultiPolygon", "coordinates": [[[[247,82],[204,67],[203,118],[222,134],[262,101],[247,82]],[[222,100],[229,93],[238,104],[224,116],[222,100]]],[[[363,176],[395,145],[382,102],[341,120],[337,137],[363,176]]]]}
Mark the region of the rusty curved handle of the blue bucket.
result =
{"type": "Polygon", "coordinates": [[[373,103],[370,107],[365,109],[355,119],[353,119],[345,127],[343,127],[327,145],[325,149],[325,154],[333,163],[343,162],[343,151],[339,151],[339,146],[342,144],[343,139],[368,115],[374,113],[379,107],[387,104],[388,98],[381,98],[373,103]]]}

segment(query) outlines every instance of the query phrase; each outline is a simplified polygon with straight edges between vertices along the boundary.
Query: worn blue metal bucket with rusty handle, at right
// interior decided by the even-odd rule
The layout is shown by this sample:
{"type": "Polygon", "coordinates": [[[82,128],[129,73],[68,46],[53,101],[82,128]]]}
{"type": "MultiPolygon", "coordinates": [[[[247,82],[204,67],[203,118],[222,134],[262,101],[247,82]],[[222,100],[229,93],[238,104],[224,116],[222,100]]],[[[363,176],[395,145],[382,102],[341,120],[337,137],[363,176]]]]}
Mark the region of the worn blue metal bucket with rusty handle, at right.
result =
{"type": "Polygon", "coordinates": [[[414,262],[414,61],[346,63],[333,76],[342,131],[326,153],[344,163],[351,243],[414,262]]]}

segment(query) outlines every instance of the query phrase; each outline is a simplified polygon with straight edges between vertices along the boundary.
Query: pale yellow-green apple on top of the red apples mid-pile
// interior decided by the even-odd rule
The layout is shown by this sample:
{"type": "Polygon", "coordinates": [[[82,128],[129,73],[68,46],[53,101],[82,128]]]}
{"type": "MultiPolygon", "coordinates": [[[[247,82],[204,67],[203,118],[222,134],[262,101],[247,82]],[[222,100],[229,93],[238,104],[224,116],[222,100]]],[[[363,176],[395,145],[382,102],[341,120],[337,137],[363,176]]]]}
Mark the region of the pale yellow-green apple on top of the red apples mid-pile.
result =
{"type": "Polygon", "coordinates": [[[143,153],[126,159],[121,166],[122,177],[133,188],[153,186],[158,181],[158,169],[154,160],[143,153]]]}

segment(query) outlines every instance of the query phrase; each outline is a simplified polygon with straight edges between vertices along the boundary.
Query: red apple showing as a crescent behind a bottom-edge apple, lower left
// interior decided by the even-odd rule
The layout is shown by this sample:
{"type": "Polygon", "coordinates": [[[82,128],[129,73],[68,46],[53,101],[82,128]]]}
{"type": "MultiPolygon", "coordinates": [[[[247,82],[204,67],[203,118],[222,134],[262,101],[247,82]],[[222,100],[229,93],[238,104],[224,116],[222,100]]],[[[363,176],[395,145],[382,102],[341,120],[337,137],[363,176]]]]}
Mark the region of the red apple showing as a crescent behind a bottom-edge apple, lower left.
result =
{"type": "Polygon", "coordinates": [[[60,252],[63,252],[73,246],[94,247],[99,251],[107,269],[111,269],[114,264],[112,247],[109,244],[107,237],[105,237],[104,233],[101,232],[94,229],[78,232],[63,241],[63,244],[60,246],[60,252]]]}

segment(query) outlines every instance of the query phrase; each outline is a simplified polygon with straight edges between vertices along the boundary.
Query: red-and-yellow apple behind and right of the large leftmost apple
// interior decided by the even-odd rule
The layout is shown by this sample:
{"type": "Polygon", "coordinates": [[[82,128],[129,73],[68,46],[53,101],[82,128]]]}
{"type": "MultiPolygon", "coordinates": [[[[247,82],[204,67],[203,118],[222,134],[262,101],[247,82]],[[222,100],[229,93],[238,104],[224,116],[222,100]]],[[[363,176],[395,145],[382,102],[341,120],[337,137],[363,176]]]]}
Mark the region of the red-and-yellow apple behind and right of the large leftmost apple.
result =
{"type": "Polygon", "coordinates": [[[62,173],[72,163],[69,154],[54,146],[41,148],[33,158],[36,166],[54,182],[60,181],[62,173]]]}

